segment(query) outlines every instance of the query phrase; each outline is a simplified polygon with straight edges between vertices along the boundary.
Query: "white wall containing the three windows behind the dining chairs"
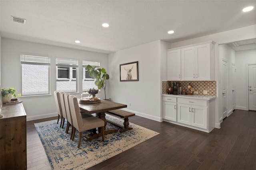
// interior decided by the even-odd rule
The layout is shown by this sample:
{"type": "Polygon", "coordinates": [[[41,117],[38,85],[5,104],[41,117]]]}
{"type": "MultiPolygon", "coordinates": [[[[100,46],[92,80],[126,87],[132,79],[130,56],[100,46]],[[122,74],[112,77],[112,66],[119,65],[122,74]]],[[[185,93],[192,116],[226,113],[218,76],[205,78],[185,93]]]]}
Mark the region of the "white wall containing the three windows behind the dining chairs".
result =
{"type": "MultiPolygon", "coordinates": [[[[56,90],[56,66],[55,58],[78,59],[78,89],[75,94],[80,98],[82,93],[82,61],[100,62],[101,67],[106,68],[108,72],[108,55],[103,53],[95,53],[77,49],[63,48],[52,45],[44,45],[39,43],[30,43],[27,41],[19,41],[14,39],[2,38],[2,56],[1,56],[1,86],[2,88],[14,87],[19,93],[21,92],[21,64],[20,55],[40,55],[51,58],[50,68],[50,92],[56,90]]],[[[108,96],[107,91],[107,96],[108,96]]],[[[103,98],[104,90],[97,96],[103,98]]],[[[54,102],[54,96],[45,97],[23,97],[24,108],[27,113],[27,120],[40,119],[57,115],[57,109],[54,102]]]]}

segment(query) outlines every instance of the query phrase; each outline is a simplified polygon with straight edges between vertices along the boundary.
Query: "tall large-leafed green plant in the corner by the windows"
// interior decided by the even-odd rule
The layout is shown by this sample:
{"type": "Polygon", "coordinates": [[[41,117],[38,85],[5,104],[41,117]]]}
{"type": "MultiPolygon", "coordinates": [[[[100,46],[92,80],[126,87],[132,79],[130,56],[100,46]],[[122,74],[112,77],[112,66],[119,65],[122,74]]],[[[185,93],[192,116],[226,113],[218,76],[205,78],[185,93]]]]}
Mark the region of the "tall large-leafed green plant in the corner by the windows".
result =
{"type": "Polygon", "coordinates": [[[105,92],[105,100],[106,99],[106,80],[109,79],[109,75],[107,74],[105,68],[95,68],[91,65],[86,66],[86,72],[90,72],[90,76],[95,79],[95,85],[98,86],[98,89],[103,88],[105,92]]]}

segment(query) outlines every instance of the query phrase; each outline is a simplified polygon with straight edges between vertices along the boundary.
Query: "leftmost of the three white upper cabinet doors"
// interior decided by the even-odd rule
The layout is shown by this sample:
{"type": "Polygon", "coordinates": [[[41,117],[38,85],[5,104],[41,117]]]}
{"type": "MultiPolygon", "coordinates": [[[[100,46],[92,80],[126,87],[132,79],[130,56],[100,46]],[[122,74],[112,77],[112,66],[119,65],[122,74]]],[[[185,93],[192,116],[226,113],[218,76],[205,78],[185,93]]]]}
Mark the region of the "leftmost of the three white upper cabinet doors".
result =
{"type": "Polygon", "coordinates": [[[180,49],[167,51],[167,80],[180,80],[180,49]]]}

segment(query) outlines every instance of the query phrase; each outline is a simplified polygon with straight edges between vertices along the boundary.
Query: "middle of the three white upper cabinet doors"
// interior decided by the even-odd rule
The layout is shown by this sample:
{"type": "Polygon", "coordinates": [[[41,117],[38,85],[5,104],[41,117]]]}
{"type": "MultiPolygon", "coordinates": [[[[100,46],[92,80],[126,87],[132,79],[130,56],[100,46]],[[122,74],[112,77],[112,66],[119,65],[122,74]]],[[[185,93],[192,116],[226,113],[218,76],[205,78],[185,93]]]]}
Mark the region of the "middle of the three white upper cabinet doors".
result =
{"type": "Polygon", "coordinates": [[[181,77],[182,80],[195,79],[195,47],[181,49],[181,77]]]}

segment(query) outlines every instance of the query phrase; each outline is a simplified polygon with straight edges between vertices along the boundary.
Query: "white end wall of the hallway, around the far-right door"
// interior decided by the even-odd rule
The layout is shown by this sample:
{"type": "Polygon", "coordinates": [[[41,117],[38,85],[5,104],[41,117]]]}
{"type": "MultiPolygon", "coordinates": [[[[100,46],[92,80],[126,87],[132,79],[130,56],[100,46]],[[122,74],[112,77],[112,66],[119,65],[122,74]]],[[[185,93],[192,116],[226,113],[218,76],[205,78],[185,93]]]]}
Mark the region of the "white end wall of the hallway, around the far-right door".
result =
{"type": "Polygon", "coordinates": [[[248,110],[246,64],[256,63],[256,50],[236,51],[236,108],[248,110]]]}

